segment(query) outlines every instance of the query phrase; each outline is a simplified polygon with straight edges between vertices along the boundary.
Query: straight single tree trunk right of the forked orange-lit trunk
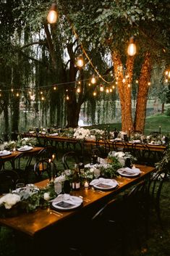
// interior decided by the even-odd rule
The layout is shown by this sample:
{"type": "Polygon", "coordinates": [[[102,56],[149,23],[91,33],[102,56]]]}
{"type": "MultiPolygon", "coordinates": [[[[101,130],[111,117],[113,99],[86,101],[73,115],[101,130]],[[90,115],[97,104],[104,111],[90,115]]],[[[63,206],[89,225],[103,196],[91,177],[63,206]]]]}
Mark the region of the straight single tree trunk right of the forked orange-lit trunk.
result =
{"type": "Polygon", "coordinates": [[[146,104],[148,99],[148,89],[150,82],[150,73],[152,69],[152,63],[150,54],[146,52],[143,66],[140,72],[139,87],[137,92],[137,104],[135,112],[134,128],[137,131],[144,131],[145,117],[146,117],[146,104]]]}

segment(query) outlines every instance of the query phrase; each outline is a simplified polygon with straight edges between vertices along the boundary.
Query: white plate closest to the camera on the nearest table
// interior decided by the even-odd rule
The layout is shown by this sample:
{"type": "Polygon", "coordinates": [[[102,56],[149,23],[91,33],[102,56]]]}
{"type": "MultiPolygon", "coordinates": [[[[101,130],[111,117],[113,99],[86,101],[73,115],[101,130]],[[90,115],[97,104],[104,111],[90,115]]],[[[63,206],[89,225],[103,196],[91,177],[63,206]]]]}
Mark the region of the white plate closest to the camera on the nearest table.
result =
{"type": "Polygon", "coordinates": [[[72,210],[82,205],[82,199],[80,197],[70,197],[72,197],[72,200],[59,199],[57,201],[52,202],[52,207],[54,207],[57,210],[72,210]],[[74,202],[74,199],[76,200],[76,203],[74,202]]]}

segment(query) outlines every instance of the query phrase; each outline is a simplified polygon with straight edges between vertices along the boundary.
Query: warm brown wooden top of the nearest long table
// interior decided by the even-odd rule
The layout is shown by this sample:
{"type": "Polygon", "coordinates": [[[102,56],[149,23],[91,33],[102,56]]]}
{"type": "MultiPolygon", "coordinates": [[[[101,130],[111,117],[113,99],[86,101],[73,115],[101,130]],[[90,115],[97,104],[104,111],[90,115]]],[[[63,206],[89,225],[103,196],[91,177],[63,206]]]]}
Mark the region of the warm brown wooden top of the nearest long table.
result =
{"type": "MultiPolygon", "coordinates": [[[[96,191],[94,189],[81,188],[80,191],[72,191],[70,194],[83,197],[83,203],[80,208],[69,211],[59,211],[61,212],[60,216],[56,215],[55,211],[53,214],[49,213],[47,209],[38,209],[35,212],[18,215],[13,218],[0,218],[0,225],[8,226],[15,231],[20,231],[22,234],[34,237],[35,234],[38,234],[41,231],[46,231],[46,228],[50,226],[57,226],[58,223],[64,222],[64,220],[68,220],[72,216],[80,215],[86,208],[93,207],[95,202],[112,199],[116,194],[119,194],[130,186],[147,178],[150,173],[155,170],[155,168],[145,165],[137,165],[136,167],[140,168],[142,171],[140,176],[135,178],[117,177],[116,181],[118,181],[119,186],[116,189],[110,191],[96,191]]],[[[41,188],[46,186],[47,183],[48,180],[45,180],[35,183],[35,185],[41,188]]]]}

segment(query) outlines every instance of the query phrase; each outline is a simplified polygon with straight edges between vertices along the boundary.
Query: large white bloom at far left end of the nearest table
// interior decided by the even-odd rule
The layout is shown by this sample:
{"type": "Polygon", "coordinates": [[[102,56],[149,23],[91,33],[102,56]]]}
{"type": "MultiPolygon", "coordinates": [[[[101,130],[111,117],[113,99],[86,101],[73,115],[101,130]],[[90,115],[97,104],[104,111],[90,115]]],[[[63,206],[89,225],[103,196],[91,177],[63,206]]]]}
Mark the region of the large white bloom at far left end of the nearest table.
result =
{"type": "Polygon", "coordinates": [[[0,205],[4,204],[6,209],[11,209],[13,205],[20,202],[20,196],[18,194],[6,194],[4,197],[0,198],[0,205]]]}

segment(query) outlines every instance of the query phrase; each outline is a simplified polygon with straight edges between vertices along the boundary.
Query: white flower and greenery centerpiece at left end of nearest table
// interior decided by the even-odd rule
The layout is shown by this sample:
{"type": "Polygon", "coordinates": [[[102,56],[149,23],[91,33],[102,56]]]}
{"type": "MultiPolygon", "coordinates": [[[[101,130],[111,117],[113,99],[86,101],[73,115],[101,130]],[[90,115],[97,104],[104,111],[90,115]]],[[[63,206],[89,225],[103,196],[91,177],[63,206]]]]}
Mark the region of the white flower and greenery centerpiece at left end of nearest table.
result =
{"type": "Polygon", "coordinates": [[[23,212],[34,212],[38,207],[46,208],[54,197],[54,182],[48,183],[43,189],[34,185],[31,188],[26,186],[0,198],[0,216],[13,217],[23,212]]]}

